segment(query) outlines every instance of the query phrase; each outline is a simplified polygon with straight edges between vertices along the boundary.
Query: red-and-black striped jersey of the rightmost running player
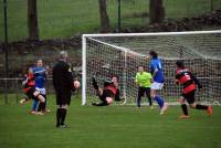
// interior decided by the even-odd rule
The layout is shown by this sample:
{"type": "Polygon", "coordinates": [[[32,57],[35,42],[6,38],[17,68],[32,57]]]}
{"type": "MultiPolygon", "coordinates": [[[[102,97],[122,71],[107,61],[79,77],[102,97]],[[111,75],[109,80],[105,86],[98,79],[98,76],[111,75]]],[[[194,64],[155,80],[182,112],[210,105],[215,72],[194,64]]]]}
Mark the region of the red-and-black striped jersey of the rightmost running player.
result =
{"type": "Polygon", "coordinates": [[[182,92],[185,94],[196,91],[196,84],[199,85],[198,80],[188,68],[178,68],[176,74],[176,81],[183,85],[182,92]]]}

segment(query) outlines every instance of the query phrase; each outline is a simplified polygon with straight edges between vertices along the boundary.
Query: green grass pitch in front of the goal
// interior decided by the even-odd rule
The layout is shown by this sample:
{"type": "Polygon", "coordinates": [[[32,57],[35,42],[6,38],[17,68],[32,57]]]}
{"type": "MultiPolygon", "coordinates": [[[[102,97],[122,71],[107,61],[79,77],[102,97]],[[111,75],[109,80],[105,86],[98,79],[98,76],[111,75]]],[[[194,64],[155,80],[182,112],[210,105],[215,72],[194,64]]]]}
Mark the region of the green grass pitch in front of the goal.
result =
{"type": "Polygon", "coordinates": [[[191,110],[190,119],[181,120],[180,107],[170,107],[167,115],[148,106],[93,107],[74,98],[66,123],[69,129],[55,128],[55,106],[51,97],[45,116],[28,113],[24,106],[0,105],[1,148],[220,148],[221,107],[213,116],[191,110]]]}

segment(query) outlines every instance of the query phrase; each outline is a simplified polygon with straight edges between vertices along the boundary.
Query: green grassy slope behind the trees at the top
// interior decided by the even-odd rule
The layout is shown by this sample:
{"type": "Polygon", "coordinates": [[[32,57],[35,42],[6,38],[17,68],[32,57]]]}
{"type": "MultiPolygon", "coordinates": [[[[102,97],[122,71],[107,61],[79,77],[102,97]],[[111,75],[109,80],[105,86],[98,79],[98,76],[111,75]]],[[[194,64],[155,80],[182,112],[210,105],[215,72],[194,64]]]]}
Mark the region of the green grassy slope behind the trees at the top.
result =
{"type": "MultiPolygon", "coordinates": [[[[196,17],[210,11],[208,0],[165,0],[166,18],[196,17]]],[[[221,0],[213,0],[213,9],[221,9],[221,0]]],[[[122,25],[139,27],[148,18],[134,18],[134,13],[148,12],[148,0],[122,0],[122,25]]],[[[0,2],[0,41],[3,40],[3,13],[0,2]]],[[[107,0],[113,29],[117,28],[117,0],[107,0]]],[[[9,40],[25,40],[27,0],[8,0],[9,40]]],[[[99,31],[97,0],[38,0],[41,39],[70,38],[73,34],[99,31]]]]}

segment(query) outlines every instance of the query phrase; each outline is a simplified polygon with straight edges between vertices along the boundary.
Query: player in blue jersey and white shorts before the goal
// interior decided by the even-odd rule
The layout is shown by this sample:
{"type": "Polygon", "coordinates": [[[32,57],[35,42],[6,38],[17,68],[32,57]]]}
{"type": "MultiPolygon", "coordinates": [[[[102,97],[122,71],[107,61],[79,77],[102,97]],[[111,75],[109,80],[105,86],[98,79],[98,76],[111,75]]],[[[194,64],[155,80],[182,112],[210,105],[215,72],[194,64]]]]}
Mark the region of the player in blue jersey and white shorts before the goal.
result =
{"type": "Polygon", "coordinates": [[[157,52],[150,51],[149,56],[150,56],[150,71],[151,71],[152,81],[154,81],[150,87],[151,89],[150,95],[151,95],[151,98],[158,103],[159,108],[160,108],[160,115],[164,115],[168,108],[168,103],[166,103],[162,97],[157,95],[157,91],[162,89],[164,82],[165,82],[162,64],[161,64],[160,59],[158,59],[157,52]]]}

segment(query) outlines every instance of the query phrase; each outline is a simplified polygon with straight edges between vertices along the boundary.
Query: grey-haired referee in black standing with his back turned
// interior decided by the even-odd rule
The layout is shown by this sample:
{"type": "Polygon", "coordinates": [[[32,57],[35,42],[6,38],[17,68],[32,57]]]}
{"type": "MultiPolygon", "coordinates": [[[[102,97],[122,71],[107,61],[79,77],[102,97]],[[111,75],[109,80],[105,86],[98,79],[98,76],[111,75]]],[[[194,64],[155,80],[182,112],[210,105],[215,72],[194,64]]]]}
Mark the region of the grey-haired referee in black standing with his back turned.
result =
{"type": "Polygon", "coordinates": [[[56,127],[69,127],[64,120],[67,106],[71,103],[71,94],[74,88],[73,75],[70,65],[67,64],[67,52],[60,52],[60,60],[53,67],[53,85],[56,92],[56,127]]]}

